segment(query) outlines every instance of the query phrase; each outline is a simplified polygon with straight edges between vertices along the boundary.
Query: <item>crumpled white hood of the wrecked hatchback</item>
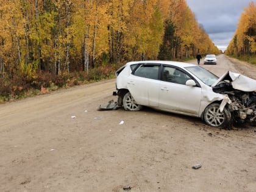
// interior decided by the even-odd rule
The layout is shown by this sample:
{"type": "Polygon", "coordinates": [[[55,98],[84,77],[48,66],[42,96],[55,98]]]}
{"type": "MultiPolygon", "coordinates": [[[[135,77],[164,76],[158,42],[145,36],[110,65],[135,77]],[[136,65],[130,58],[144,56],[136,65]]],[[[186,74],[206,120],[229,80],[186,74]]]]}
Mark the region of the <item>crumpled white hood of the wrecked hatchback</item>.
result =
{"type": "Polygon", "coordinates": [[[231,71],[227,71],[227,73],[219,77],[219,79],[212,85],[212,87],[218,85],[222,80],[229,80],[232,87],[236,90],[256,91],[256,80],[238,73],[232,73],[231,71]]]}

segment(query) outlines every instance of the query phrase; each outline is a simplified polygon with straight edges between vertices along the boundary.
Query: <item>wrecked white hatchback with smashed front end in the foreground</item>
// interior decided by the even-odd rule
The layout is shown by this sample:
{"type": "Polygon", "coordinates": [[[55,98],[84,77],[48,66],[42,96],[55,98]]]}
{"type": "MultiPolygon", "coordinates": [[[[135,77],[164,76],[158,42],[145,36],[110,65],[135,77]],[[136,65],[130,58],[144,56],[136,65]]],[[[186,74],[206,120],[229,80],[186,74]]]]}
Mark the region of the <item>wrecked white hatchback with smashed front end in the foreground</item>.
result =
{"type": "Polygon", "coordinates": [[[256,80],[227,72],[217,77],[201,66],[168,61],[129,62],[116,71],[118,106],[143,106],[202,118],[213,127],[256,121],[256,80]]]}

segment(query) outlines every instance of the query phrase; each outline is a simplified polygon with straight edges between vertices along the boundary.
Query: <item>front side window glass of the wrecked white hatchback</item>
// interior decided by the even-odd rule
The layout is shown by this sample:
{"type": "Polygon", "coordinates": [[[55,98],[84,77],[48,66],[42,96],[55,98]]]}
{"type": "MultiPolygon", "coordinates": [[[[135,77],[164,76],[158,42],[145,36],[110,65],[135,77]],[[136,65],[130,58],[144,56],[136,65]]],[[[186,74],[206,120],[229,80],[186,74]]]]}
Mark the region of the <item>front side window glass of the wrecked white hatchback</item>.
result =
{"type": "Polygon", "coordinates": [[[185,85],[187,80],[189,79],[191,78],[179,69],[172,68],[169,66],[163,67],[162,80],[166,82],[185,85]]]}

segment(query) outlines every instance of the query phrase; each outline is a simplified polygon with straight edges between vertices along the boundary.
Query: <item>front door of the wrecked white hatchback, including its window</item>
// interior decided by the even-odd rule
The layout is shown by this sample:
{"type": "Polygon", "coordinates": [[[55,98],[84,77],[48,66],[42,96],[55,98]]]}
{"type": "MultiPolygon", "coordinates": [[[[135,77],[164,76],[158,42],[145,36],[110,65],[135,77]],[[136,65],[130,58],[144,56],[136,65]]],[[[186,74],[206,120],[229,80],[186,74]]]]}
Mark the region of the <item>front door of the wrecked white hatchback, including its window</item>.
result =
{"type": "Polygon", "coordinates": [[[159,107],[163,110],[197,116],[201,104],[201,87],[185,85],[193,79],[181,69],[163,66],[159,87],[159,107]]]}

